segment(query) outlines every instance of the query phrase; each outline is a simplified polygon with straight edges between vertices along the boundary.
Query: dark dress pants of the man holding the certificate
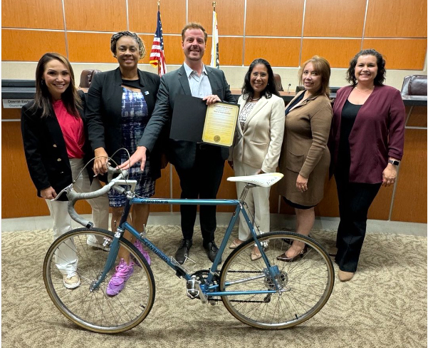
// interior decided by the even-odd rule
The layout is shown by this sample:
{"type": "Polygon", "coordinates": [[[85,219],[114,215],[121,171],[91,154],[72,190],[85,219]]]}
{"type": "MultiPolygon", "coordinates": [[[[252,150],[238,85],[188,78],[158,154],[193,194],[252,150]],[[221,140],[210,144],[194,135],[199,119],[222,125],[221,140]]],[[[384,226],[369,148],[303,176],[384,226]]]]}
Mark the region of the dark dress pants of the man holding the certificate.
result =
{"type": "MultiPolygon", "coordinates": [[[[182,188],[181,198],[214,199],[220,187],[223,176],[224,160],[220,148],[214,145],[197,144],[196,156],[192,168],[175,167],[182,188]]],[[[193,237],[194,222],[197,215],[197,205],[180,205],[182,215],[182,233],[186,240],[193,237]]],[[[214,240],[216,230],[216,205],[201,205],[199,207],[204,243],[214,240]]]]}

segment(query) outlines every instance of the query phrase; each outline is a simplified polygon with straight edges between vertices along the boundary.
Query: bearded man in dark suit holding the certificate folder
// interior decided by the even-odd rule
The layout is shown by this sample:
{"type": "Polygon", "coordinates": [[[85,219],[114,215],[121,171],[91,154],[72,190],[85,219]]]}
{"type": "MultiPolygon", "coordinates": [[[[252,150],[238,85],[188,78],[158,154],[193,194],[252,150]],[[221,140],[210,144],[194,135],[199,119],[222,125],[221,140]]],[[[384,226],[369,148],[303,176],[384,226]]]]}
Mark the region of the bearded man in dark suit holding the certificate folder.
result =
{"type": "MultiPolygon", "coordinates": [[[[182,30],[182,49],[184,64],[176,71],[162,76],[157,93],[155,110],[152,113],[139,146],[130,158],[133,165],[141,161],[145,166],[146,152],[152,151],[162,128],[171,124],[174,102],[180,95],[203,98],[207,105],[216,101],[236,103],[231,95],[229,85],[221,70],[204,66],[202,57],[207,44],[207,32],[197,23],[189,23],[182,30]]],[[[224,170],[224,160],[229,156],[229,149],[216,145],[194,143],[190,141],[169,139],[167,145],[169,161],[175,166],[182,188],[181,198],[216,198],[224,170]]],[[[120,165],[126,168],[127,162],[120,165]]],[[[194,222],[197,215],[196,205],[181,205],[183,239],[175,254],[176,260],[183,264],[192,247],[194,222]]],[[[204,248],[209,260],[214,261],[218,247],[214,242],[216,230],[216,207],[202,205],[199,220],[204,248]]]]}

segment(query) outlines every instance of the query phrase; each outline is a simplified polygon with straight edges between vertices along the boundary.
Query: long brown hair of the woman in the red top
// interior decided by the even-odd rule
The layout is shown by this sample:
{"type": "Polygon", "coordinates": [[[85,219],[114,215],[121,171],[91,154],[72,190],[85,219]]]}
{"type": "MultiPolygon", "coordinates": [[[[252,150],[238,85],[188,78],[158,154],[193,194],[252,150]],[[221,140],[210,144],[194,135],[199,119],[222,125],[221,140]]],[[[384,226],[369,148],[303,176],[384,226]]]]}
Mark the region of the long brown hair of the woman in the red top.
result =
{"type": "Polygon", "coordinates": [[[73,68],[71,67],[71,63],[68,61],[68,59],[59,53],[45,53],[37,63],[36,96],[34,96],[34,108],[42,109],[41,117],[47,117],[51,114],[51,93],[46,86],[46,82],[43,80],[43,73],[45,72],[46,63],[52,61],[53,59],[63,63],[70,73],[70,85],[66,91],[61,94],[61,100],[63,101],[67,112],[73,116],[78,117],[78,109],[82,108],[82,101],[78,95],[77,88],[75,88],[73,68]]]}

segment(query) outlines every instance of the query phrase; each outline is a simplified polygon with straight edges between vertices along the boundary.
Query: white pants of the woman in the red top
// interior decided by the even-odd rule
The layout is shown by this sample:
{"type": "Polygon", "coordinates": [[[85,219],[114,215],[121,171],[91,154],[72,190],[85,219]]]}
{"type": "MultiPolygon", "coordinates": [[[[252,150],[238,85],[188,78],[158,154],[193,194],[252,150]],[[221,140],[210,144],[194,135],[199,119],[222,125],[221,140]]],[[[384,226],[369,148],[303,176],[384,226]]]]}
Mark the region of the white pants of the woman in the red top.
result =
{"type": "MultiPolygon", "coordinates": [[[[74,180],[82,170],[84,163],[82,159],[71,158],[71,175],[74,180]]],[[[78,192],[93,192],[101,188],[101,184],[98,181],[98,178],[93,178],[92,184],[89,181],[88,171],[86,169],[80,174],[79,178],[74,184],[74,189],[78,192]]],[[[63,193],[65,194],[65,193],[63,193]]],[[[68,202],[60,200],[46,200],[48,204],[49,211],[51,212],[51,218],[53,219],[53,239],[56,240],[59,236],[70,231],[71,227],[71,217],[68,214],[67,206],[68,202]]],[[[92,221],[95,227],[103,228],[108,230],[108,196],[102,195],[101,197],[88,200],[92,208],[92,221]]],[[[100,241],[97,241],[95,236],[94,242],[98,244],[103,244],[103,238],[100,241]]],[[[63,275],[68,274],[69,272],[75,272],[77,270],[78,257],[75,253],[75,245],[72,239],[64,243],[59,247],[58,252],[56,252],[55,260],[56,267],[61,271],[63,275]]]]}

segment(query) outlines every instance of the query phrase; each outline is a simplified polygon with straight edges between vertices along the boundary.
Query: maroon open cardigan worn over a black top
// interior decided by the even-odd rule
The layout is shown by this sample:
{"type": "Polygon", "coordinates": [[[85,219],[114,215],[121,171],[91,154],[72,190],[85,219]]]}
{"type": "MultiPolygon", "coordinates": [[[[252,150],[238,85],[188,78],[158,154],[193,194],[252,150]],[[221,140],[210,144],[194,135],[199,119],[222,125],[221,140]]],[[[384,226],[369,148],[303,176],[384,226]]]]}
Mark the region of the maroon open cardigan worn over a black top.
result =
{"type": "MultiPolygon", "coordinates": [[[[333,106],[329,148],[330,175],[338,160],[342,109],[353,86],[340,88],[333,106]]],[[[402,159],[404,147],[404,103],[400,91],[390,86],[375,86],[357,113],[349,135],[350,183],[382,183],[382,172],[389,157],[402,159]]]]}

